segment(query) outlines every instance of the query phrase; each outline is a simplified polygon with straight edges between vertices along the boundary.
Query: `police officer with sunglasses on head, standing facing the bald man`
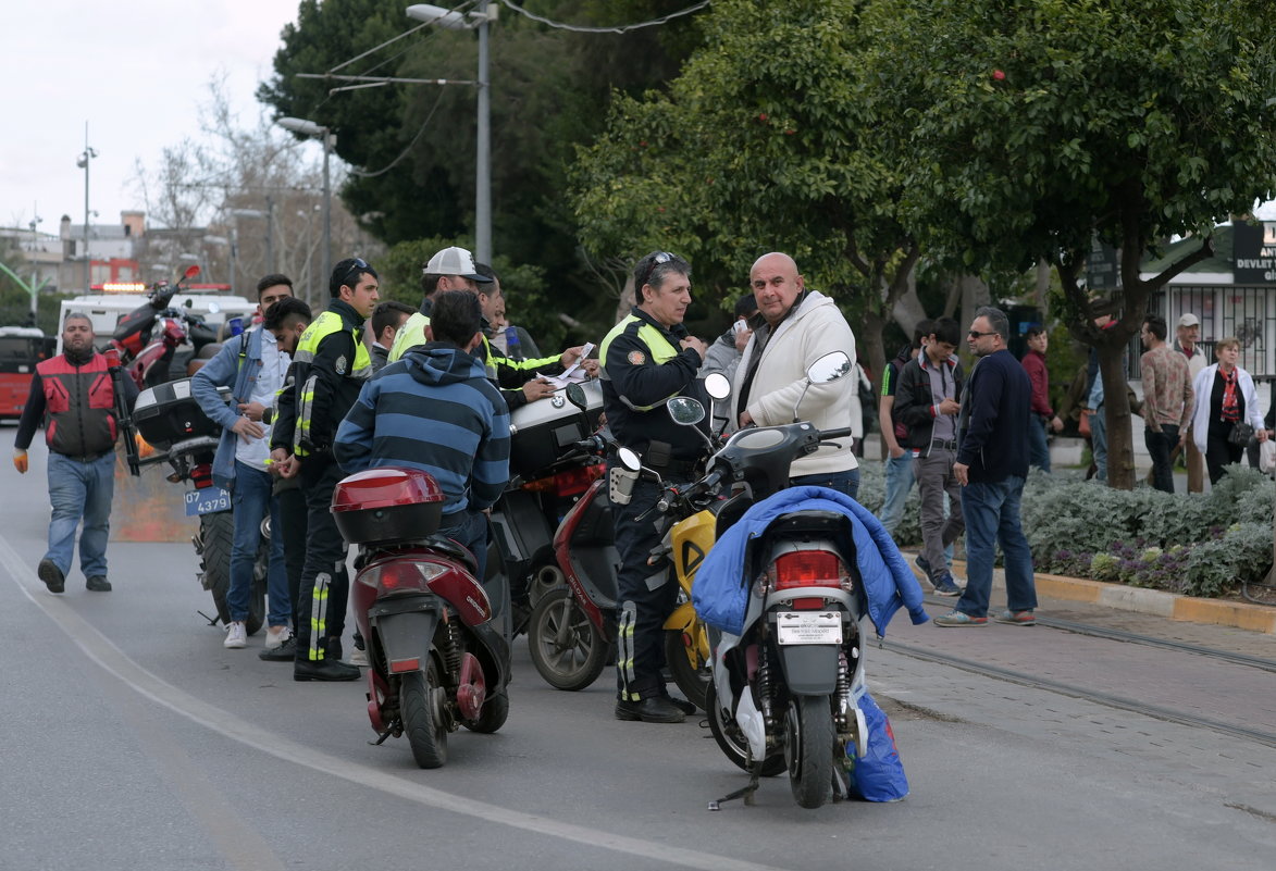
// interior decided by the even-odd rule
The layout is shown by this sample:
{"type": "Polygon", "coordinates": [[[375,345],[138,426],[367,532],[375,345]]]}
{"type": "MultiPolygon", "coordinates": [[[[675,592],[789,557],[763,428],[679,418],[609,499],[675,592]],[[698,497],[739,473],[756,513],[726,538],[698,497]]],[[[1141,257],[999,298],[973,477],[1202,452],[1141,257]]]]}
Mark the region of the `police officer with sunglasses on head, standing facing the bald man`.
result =
{"type": "MultiPolygon", "coordinates": [[[[684,395],[709,407],[697,380],[707,348],[683,326],[692,302],[690,275],[690,265],[667,251],[641,259],[634,268],[638,306],[607,333],[598,352],[602,407],[612,435],[621,446],[637,451],[643,465],[674,482],[694,478],[695,460],[706,445],[693,427],[674,422],[665,402],[684,395]]],[[[609,474],[615,465],[609,463],[609,474]]],[[[660,491],[653,481],[639,479],[629,504],[612,508],[621,560],[616,578],[616,719],[680,723],[694,706],[670,699],[661,675],[661,626],[674,608],[678,584],[667,561],[647,562],[660,543],[658,516],[651,510],[660,491]]]]}

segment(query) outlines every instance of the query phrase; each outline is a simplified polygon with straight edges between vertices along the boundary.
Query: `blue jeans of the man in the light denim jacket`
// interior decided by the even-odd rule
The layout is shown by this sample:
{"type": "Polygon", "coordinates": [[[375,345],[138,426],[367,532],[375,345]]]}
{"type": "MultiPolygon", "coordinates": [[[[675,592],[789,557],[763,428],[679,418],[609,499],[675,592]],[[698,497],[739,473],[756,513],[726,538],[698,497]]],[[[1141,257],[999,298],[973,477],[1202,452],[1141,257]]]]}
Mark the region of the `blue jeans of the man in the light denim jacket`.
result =
{"type": "Polygon", "coordinates": [[[248,620],[253,569],[256,565],[256,548],[262,542],[262,518],[269,513],[271,560],[265,573],[269,613],[265,621],[271,626],[287,626],[292,622],[292,602],[288,598],[288,571],[283,561],[279,500],[272,496],[273,490],[274,482],[268,472],[235,460],[235,490],[231,492],[235,538],[231,545],[231,588],[226,593],[226,607],[231,612],[231,620],[248,620]]]}

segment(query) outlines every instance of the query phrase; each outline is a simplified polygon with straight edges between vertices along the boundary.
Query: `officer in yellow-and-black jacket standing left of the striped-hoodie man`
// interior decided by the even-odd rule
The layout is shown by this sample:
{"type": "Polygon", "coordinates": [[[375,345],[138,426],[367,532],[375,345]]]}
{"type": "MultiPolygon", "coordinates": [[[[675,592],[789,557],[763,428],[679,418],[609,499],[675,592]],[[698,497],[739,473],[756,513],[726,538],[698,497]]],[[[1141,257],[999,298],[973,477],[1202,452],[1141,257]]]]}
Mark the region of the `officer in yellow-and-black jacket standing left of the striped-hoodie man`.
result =
{"type": "Polygon", "coordinates": [[[332,272],[328,309],[301,334],[292,355],[290,385],[279,394],[271,430],[271,459],[283,477],[301,476],[306,496],[306,564],[297,594],[299,681],[352,681],[359,668],[341,661],[350,578],[346,545],[332,519],[332,491],[342,479],[332,443],[373,362],[360,340],[364,320],[378,300],[376,270],[359,258],[332,272]]]}

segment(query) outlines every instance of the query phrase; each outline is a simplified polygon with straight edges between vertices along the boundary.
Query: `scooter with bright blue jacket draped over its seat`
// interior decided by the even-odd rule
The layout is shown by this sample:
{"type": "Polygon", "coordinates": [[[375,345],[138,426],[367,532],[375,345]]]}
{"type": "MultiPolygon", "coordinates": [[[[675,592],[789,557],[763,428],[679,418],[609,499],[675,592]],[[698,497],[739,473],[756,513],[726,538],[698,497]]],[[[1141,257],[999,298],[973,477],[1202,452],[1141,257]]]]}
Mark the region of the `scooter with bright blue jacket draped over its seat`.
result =
{"type": "MultiPolygon", "coordinates": [[[[812,365],[808,381],[837,380],[849,363],[842,352],[827,355],[812,365]]],[[[925,622],[921,588],[859,502],[824,487],[789,486],[792,460],[846,437],[849,427],[820,431],[796,421],[795,409],[794,423],[732,435],[688,487],[730,495],[716,513],[716,541],[692,601],[709,626],[709,729],[749,783],[711,802],[711,810],[741,796],[752,803],[759,777],[785,769],[801,807],[819,807],[831,796],[882,801],[907,791],[902,768],[893,794],[857,788],[857,760],[888,740],[864,690],[861,621],[868,616],[882,635],[906,607],[912,622],[925,622]],[[870,729],[866,715],[880,728],[870,729]]]]}

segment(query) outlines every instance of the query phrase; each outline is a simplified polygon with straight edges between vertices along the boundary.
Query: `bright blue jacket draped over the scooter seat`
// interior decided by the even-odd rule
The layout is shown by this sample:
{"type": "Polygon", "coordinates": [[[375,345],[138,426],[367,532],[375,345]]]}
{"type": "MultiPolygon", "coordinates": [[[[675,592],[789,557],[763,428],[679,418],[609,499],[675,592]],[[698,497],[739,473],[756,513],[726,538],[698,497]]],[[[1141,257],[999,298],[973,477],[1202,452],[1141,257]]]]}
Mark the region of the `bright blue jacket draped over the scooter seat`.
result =
{"type": "Polygon", "coordinates": [[[850,519],[869,620],[879,638],[901,607],[909,610],[914,624],[929,620],[921,607],[921,585],[900,556],[891,533],[866,508],[827,487],[781,490],[753,505],[722,533],[695,573],[692,587],[692,603],[701,620],[732,635],[744,633],[744,615],[749,604],[749,579],[744,578],[745,547],[752,538],[762,536],[776,518],[792,511],[835,511],[850,519]]]}

